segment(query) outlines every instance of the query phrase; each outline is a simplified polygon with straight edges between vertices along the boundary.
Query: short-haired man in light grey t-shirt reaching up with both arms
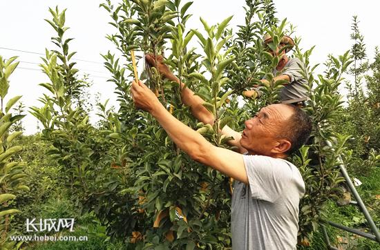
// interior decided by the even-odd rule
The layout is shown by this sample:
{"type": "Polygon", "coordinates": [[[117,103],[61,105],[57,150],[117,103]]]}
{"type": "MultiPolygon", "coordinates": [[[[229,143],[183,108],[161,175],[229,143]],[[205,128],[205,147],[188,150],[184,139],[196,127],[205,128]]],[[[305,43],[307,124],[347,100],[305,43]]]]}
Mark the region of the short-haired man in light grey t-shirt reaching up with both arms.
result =
{"type": "MultiPolygon", "coordinates": [[[[153,57],[146,61],[153,65],[153,57]]],[[[162,64],[164,77],[182,84],[162,64]]],[[[202,135],[175,119],[141,81],[132,82],[135,106],[160,122],[173,142],[193,160],[233,177],[231,205],[233,249],[296,249],[298,204],[305,184],[298,169],[285,158],[300,148],[311,131],[310,118],[297,106],[274,104],[245,122],[243,133],[228,126],[222,133],[231,136],[231,145],[240,153],[213,146],[202,135]]],[[[213,124],[214,117],[189,88],[182,88],[182,100],[201,122],[213,124]]]]}

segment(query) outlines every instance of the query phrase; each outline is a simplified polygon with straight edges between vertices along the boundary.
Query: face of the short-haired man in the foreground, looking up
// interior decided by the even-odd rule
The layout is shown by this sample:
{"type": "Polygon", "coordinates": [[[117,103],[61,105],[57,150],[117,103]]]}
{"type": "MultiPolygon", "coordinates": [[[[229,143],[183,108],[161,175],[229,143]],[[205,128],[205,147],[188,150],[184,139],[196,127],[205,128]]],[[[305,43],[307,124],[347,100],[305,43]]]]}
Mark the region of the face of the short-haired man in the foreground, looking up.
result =
{"type": "Polygon", "coordinates": [[[250,155],[274,155],[274,149],[281,140],[287,140],[280,136],[293,112],[292,108],[284,104],[272,104],[262,108],[255,117],[245,122],[241,146],[250,155]]]}

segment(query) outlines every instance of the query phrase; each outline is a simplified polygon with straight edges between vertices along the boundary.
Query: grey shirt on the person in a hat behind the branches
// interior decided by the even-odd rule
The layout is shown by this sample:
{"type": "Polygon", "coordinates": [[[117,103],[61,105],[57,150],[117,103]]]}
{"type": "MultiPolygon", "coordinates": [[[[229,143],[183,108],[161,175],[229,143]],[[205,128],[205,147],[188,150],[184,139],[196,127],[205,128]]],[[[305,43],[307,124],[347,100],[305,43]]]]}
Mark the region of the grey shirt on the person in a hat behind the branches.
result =
{"type": "Polygon", "coordinates": [[[281,71],[274,70],[274,76],[279,72],[280,75],[287,75],[290,78],[289,84],[281,88],[280,99],[282,103],[303,102],[307,99],[306,79],[300,73],[302,61],[298,58],[289,58],[287,64],[281,71]]]}

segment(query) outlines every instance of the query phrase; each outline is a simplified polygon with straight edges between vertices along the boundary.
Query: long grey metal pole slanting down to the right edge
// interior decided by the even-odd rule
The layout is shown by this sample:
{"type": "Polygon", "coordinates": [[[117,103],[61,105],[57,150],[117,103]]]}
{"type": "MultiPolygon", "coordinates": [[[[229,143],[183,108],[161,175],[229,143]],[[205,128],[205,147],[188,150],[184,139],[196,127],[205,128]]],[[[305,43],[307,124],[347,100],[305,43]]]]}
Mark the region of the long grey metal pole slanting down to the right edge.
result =
{"type": "MultiPolygon", "coordinates": [[[[325,142],[326,142],[327,146],[330,146],[330,148],[334,151],[334,148],[332,148],[331,142],[327,141],[327,140],[325,142]]],[[[359,193],[357,192],[357,189],[355,189],[355,186],[352,183],[350,176],[348,175],[347,170],[345,169],[345,166],[343,165],[343,160],[342,160],[341,155],[338,156],[338,160],[339,160],[339,169],[341,169],[341,174],[345,178],[345,181],[346,181],[346,184],[348,185],[348,188],[352,192],[352,195],[354,195],[354,198],[357,201],[357,205],[359,206],[359,208],[363,212],[365,219],[367,219],[367,221],[368,221],[368,224],[370,224],[370,229],[374,233],[374,235],[376,236],[376,241],[380,243],[379,229],[377,229],[376,224],[374,224],[374,221],[372,220],[370,213],[368,213],[368,210],[365,207],[363,200],[361,200],[361,197],[360,197],[359,193]]]]}

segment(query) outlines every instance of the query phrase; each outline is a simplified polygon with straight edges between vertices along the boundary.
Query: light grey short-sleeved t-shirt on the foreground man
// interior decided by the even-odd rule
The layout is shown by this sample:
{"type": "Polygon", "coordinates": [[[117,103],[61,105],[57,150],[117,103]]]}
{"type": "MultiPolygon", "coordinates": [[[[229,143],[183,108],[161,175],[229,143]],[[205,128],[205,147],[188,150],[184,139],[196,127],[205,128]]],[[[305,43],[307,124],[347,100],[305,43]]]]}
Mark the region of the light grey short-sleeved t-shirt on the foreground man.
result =
{"type": "Polygon", "coordinates": [[[296,249],[298,205],[305,184],[296,166],[263,155],[243,155],[249,184],[235,181],[232,248],[296,249]]]}

